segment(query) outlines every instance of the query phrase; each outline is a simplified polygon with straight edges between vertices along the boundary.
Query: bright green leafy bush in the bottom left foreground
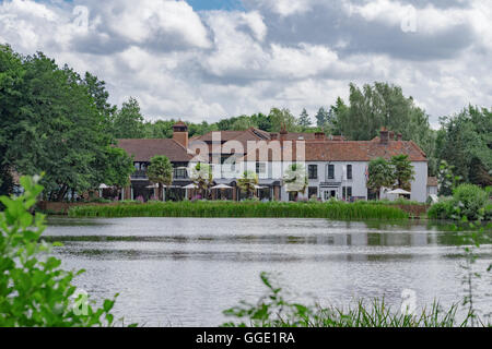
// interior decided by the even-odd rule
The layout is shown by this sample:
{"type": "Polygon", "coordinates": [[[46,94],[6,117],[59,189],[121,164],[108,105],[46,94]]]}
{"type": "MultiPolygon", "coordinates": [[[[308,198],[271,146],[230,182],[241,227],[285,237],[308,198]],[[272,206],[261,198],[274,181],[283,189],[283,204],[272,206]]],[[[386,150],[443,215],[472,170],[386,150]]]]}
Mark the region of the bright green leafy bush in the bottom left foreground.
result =
{"type": "Polygon", "coordinates": [[[83,270],[65,272],[61,261],[49,255],[57,244],[42,238],[45,217],[31,214],[43,191],[37,180],[22,177],[24,195],[0,197],[5,205],[0,213],[0,327],[113,325],[115,299],[104,300],[101,309],[83,296],[70,300],[77,291],[71,282],[83,270]]]}

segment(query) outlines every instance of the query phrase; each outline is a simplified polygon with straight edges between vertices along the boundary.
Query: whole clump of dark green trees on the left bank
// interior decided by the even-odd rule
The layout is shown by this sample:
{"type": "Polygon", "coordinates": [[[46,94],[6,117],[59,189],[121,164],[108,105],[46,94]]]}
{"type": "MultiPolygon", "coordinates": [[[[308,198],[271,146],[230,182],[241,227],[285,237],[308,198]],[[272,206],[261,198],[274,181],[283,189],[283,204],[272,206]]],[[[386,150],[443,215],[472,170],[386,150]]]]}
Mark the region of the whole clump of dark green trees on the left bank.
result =
{"type": "Polygon", "coordinates": [[[0,172],[44,171],[46,198],[58,201],[69,190],[121,183],[129,160],[108,148],[115,109],[107,98],[90,73],[82,79],[43,53],[0,46],[0,172]]]}

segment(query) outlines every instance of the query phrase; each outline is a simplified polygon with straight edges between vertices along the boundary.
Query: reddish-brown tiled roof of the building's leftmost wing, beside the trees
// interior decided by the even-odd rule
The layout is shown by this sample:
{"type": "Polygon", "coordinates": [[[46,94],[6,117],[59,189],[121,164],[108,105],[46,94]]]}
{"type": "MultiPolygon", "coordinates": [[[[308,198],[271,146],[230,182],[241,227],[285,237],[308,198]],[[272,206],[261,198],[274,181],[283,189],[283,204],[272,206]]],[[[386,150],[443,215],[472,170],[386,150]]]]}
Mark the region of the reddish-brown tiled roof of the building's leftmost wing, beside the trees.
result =
{"type": "Polygon", "coordinates": [[[192,159],[187,149],[174,140],[118,140],[118,147],[134,156],[134,161],[150,161],[155,155],[165,155],[173,163],[192,159]]]}

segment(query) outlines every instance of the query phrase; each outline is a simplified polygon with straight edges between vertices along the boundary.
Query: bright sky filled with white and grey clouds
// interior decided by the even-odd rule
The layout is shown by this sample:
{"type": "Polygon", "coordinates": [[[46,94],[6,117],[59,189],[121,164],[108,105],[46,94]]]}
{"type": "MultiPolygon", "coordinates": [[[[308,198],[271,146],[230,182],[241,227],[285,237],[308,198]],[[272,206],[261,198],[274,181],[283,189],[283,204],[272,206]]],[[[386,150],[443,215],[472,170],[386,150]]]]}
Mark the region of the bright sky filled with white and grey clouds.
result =
{"type": "Polygon", "coordinates": [[[436,127],[492,107],[491,17],[490,0],[3,0],[0,43],[90,71],[148,120],[314,117],[383,81],[436,127]]]}

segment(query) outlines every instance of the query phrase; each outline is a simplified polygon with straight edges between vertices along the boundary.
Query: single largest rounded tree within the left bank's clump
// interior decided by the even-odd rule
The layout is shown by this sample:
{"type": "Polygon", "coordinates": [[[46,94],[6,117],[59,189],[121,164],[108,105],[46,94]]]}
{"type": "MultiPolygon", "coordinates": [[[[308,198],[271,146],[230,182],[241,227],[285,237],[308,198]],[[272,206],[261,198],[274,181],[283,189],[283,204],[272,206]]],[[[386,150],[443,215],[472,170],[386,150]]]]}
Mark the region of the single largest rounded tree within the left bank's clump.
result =
{"type": "Polygon", "coordinates": [[[20,173],[45,171],[43,184],[52,200],[63,200],[69,189],[91,189],[95,157],[108,137],[87,87],[73,70],[43,53],[24,58],[23,67],[20,121],[11,125],[15,136],[7,157],[20,173]]]}

